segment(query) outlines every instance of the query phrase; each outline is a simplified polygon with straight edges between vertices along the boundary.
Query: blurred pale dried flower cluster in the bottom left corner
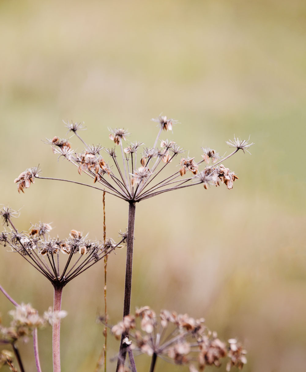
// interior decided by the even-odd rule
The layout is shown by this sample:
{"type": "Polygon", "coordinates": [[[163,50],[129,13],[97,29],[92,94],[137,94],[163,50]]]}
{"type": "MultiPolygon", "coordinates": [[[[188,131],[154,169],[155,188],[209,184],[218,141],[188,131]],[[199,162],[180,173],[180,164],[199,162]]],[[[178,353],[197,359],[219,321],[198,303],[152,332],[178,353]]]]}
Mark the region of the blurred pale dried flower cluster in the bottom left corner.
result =
{"type": "Polygon", "coordinates": [[[3,327],[0,324],[0,340],[9,343],[30,336],[34,328],[46,327],[48,323],[52,324],[52,320],[64,318],[67,315],[64,310],[53,312],[52,308],[49,308],[40,317],[38,311],[32,308],[30,304],[18,305],[14,310],[9,311],[9,314],[13,318],[10,327],[3,327]]]}

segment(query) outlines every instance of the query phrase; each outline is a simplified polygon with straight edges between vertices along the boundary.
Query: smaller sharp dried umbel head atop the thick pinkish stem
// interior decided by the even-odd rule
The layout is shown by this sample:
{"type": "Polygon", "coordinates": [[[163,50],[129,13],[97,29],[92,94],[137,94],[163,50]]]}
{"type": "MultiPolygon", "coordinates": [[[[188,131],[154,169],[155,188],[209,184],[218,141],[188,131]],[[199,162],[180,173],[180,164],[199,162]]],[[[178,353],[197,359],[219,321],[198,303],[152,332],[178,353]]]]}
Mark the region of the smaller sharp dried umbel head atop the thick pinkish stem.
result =
{"type": "MultiPolygon", "coordinates": [[[[11,209],[3,208],[2,217],[4,222],[11,224],[10,219],[7,221],[8,210],[10,214],[14,213],[11,209]]],[[[50,237],[50,224],[39,222],[32,225],[27,233],[18,232],[12,224],[11,226],[11,231],[3,231],[0,234],[0,243],[21,254],[52,283],[61,283],[63,286],[116,247],[122,247],[119,244],[126,240],[126,237],[122,237],[116,244],[112,239],[107,239],[105,244],[101,244],[87,240],[86,236],[77,230],[71,230],[69,238],[59,240],[50,237]],[[61,254],[68,255],[64,269],[60,262],[61,254]],[[78,259],[74,259],[75,254],[79,255],[78,259]]]]}

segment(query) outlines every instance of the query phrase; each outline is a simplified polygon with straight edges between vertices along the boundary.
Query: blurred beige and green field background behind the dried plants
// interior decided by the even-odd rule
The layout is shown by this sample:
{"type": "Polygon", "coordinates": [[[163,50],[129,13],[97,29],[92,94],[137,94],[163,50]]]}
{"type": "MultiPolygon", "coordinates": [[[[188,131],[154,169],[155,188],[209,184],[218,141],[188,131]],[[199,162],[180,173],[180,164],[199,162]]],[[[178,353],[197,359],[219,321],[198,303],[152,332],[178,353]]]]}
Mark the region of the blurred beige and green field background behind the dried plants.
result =
{"type": "MultiPolygon", "coordinates": [[[[0,203],[22,207],[20,230],[41,220],[55,236],[75,228],[102,239],[99,192],[36,180],[19,195],[13,184],[38,163],[43,176],[89,182],[41,141],[65,135],[62,119],[84,121],[89,143],[110,147],[107,127],[123,126],[149,146],[157,132],[150,119],[163,112],[180,122],[163,137],[196,159],[201,146],[229,154],[225,141],[251,135],[252,155],[226,162],[239,176],[233,190],[192,187],[137,205],[132,292],[132,308],[204,316],[221,339],[238,337],[248,349],[245,372],[305,371],[305,16],[303,0],[0,2],[0,203]]],[[[106,213],[116,238],[127,203],[107,196],[106,213]]],[[[115,323],[124,249],[108,262],[115,323]]],[[[94,370],[102,266],[64,289],[63,371],[94,370]]],[[[3,247],[0,283],[41,312],[52,305],[50,283],[3,247]]],[[[0,303],[7,324],[10,303],[0,303]]],[[[51,371],[50,329],[39,331],[39,348],[51,371]]],[[[20,349],[35,371],[31,342],[20,349]]],[[[117,350],[111,340],[108,356],[117,350]]],[[[136,362],[149,369],[149,357],[136,362]]],[[[156,371],[186,371],[157,363],[156,371]]]]}

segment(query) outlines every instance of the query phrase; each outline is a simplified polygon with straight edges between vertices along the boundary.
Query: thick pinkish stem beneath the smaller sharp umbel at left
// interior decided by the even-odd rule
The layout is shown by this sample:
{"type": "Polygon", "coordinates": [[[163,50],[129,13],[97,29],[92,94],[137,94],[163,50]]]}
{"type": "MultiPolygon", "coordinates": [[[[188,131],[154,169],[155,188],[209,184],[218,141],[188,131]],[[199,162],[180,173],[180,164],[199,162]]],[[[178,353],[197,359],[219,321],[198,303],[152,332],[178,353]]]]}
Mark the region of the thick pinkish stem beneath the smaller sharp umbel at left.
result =
{"type": "MultiPolygon", "coordinates": [[[[54,297],[53,297],[53,311],[61,311],[61,302],[62,302],[62,291],[63,286],[56,284],[54,288],[54,297]]],[[[61,372],[61,356],[60,356],[60,329],[61,329],[61,319],[53,321],[52,325],[52,356],[53,356],[53,372],[61,372]]]]}

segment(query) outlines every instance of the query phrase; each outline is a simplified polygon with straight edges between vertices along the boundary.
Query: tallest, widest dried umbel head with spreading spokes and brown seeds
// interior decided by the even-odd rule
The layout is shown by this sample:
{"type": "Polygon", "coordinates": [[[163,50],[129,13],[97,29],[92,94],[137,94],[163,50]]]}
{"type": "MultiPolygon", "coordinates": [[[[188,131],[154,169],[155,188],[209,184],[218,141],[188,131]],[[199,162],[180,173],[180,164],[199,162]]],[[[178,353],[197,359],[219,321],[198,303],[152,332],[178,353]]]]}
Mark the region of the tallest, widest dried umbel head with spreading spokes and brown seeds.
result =
{"type": "MultiPolygon", "coordinates": [[[[84,172],[94,180],[94,183],[100,183],[102,185],[101,190],[128,202],[139,202],[163,192],[182,189],[198,183],[203,183],[205,189],[209,185],[219,186],[221,183],[224,183],[228,189],[232,189],[233,182],[238,177],[230,169],[225,168],[222,164],[218,166],[218,164],[225,161],[238,150],[247,150],[253,143],[234,137],[234,140],[227,141],[227,144],[230,147],[235,147],[236,150],[223,159],[215,150],[209,147],[202,148],[203,160],[196,161],[194,157],[182,157],[177,163],[179,170],[161,177],[159,173],[172,162],[173,158],[183,153],[184,150],[175,141],[168,139],[161,140],[160,147],[157,147],[162,131],[172,131],[172,125],[176,121],[168,119],[166,116],[159,116],[152,120],[158,123],[160,130],[153,147],[143,148],[139,159],[140,164],[137,164],[137,152],[143,142],[132,142],[123,147],[123,141],[126,141],[130,135],[123,128],[110,129],[111,133],[109,135],[114,144],[121,148],[122,162],[117,160],[115,148],[104,150],[111,158],[110,164],[100,154],[100,151],[103,150],[100,145],[89,146],[85,144],[77,134],[78,129],[84,129],[80,123],[68,122],[68,124],[65,124],[69,131],[73,132],[85,144],[83,152],[74,153],[70,142],[57,136],[53,137],[52,140],[47,140],[46,143],[52,146],[55,154],[58,154],[59,157],[63,156],[74,164],[78,168],[79,174],[84,172]],[[207,165],[204,170],[199,171],[199,165],[203,162],[209,164],[210,160],[212,165],[207,165]],[[188,171],[191,172],[191,176],[184,177],[188,171]],[[105,174],[108,177],[105,177],[105,174]],[[159,177],[156,178],[157,176],[159,177]],[[149,184],[154,179],[155,182],[149,187],[149,184]]],[[[15,180],[18,183],[18,191],[23,191],[24,188],[29,187],[30,183],[34,182],[35,177],[44,178],[38,176],[38,172],[35,173],[32,170],[27,170],[20,174],[15,180]]]]}

